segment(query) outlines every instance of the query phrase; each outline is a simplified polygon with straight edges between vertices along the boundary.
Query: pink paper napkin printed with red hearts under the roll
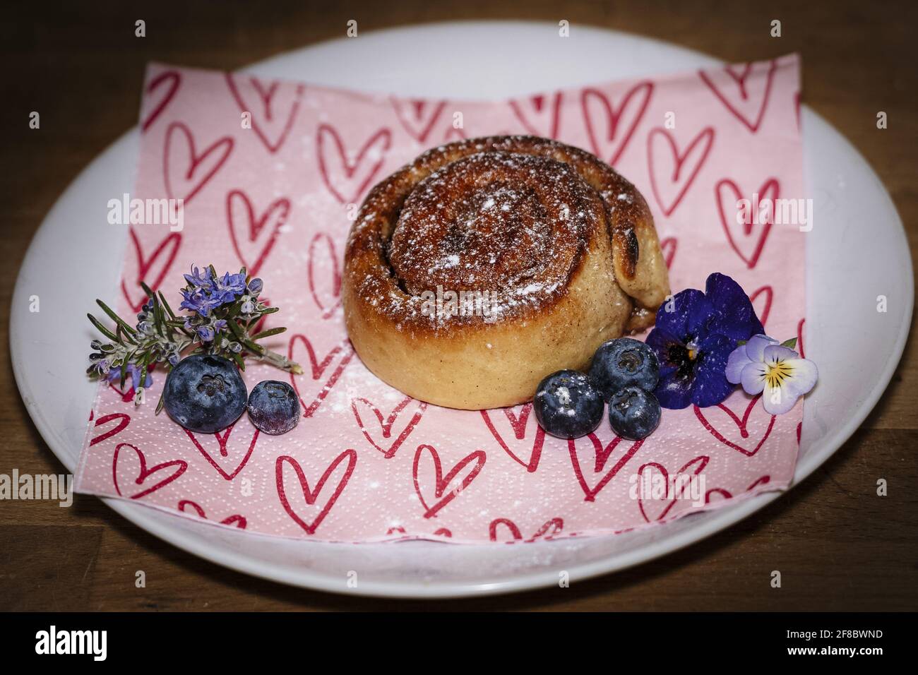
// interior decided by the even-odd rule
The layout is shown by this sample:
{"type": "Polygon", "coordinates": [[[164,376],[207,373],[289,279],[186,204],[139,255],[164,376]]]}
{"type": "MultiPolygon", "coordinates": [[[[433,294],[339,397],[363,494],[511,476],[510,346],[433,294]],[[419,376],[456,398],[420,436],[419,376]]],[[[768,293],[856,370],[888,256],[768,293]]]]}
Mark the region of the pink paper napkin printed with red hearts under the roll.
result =
{"type": "MultiPolygon", "coordinates": [[[[182,197],[185,223],[130,226],[118,309],[139,309],[140,280],[176,307],[192,264],[245,264],[281,308],[267,326],[289,329],[268,345],[305,367],[292,378],[303,417],[282,436],[246,416],[222,433],[189,433],[153,414],[162,372],[140,407],[105,384],[77,489],[262,534],[486,543],[620,532],[787,487],[801,402],[776,418],[737,391],[720,406],[664,411],[634,443],[608,422],[577,441],[545,436],[530,405],[453,411],[407,398],[348,343],[341,254],[367,190],[423,150],[551,136],[595,152],[644,193],[674,292],[725,273],[768,334],[802,338],[800,228],[735,218],[741,198],[804,197],[799,68],[792,55],[478,102],[151,65],[131,197],[182,197]]],[[[244,373],[249,388],[287,377],[269,366],[244,373]]]]}

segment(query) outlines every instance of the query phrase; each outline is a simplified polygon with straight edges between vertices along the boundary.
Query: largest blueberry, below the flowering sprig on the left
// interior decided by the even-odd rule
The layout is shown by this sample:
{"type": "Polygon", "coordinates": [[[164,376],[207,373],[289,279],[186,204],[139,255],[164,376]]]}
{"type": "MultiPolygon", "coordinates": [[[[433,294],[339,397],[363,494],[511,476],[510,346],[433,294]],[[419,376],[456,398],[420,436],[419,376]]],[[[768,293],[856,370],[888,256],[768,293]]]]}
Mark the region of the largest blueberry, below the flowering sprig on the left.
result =
{"type": "Polygon", "coordinates": [[[210,354],[186,356],[169,371],[162,403],[175,422],[197,433],[214,433],[236,422],[249,393],[229,359],[210,354]]]}

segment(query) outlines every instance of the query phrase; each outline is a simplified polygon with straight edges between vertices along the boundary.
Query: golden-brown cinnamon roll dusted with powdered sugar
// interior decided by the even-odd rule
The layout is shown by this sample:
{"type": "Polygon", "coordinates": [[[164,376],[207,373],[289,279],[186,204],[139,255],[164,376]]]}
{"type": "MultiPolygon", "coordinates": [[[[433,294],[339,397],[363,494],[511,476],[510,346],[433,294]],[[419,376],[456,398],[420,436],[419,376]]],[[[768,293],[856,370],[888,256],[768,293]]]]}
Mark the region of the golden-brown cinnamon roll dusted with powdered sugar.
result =
{"type": "Polygon", "coordinates": [[[592,154],[529,136],[420,155],[366,197],[342,301],[364,364],[409,396],[476,410],[532,399],[669,294],[637,189],[592,154]]]}

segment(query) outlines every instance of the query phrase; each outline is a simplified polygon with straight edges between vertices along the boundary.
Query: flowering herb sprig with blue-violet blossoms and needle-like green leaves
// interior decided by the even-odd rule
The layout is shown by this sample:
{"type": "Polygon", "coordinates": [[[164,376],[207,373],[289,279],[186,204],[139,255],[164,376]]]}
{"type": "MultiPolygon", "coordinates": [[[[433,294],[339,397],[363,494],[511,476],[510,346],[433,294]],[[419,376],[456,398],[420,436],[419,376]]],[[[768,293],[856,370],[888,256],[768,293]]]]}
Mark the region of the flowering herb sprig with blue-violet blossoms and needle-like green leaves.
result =
{"type": "MultiPolygon", "coordinates": [[[[278,311],[259,299],[263,290],[261,279],[247,276],[244,267],[239,274],[228,272],[218,276],[214,266],[208,265],[203,270],[193,267],[191,274],[185,275],[185,281],[187,285],[181,289],[183,300],[179,309],[191,312],[186,315],[175,314],[162,291],[153,293],[142,282],[140,286],[148,299],[134,326],[121,319],[102,300],[96,300],[106,316],[115,322],[115,329],[112,331],[92,314],[87,315],[109,342],[94,340],[90,343],[93,353],[89,354],[91,363],[86,373],[94,379],[117,379],[122,390],[130,377],[136,405],[143,402],[144,388],[152,384],[148,374],[150,366],[162,364],[169,370],[189,349],[190,354],[228,358],[241,370],[245,370],[244,357],[250,355],[295,375],[303,373],[297,363],[257,342],[285,332],[286,328],[251,333],[264,316],[278,311]]],[[[156,411],[161,409],[162,399],[156,411]]]]}

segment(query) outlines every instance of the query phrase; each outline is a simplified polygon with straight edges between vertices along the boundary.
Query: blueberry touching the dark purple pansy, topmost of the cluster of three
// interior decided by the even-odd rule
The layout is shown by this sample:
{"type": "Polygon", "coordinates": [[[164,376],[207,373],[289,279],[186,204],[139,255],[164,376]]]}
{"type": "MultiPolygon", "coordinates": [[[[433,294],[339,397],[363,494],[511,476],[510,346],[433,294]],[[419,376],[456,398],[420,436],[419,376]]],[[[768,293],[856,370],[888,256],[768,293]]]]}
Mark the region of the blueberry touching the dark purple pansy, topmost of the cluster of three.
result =
{"type": "Polygon", "coordinates": [[[640,387],[653,391],[660,378],[656,354],[646,343],[618,338],[599,345],[589,366],[589,378],[607,401],[619,389],[640,387]]]}

